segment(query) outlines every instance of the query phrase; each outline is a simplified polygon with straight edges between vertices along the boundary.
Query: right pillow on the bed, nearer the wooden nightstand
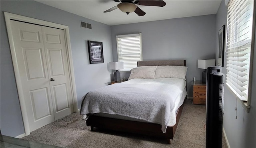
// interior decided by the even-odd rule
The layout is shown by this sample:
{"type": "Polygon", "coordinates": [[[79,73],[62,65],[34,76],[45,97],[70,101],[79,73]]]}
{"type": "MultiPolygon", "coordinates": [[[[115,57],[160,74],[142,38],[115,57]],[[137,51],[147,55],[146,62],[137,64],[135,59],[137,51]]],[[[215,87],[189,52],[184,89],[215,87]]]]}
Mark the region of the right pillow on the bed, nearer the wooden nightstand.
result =
{"type": "Polygon", "coordinates": [[[186,80],[186,66],[158,66],[155,78],[180,78],[186,80]]]}

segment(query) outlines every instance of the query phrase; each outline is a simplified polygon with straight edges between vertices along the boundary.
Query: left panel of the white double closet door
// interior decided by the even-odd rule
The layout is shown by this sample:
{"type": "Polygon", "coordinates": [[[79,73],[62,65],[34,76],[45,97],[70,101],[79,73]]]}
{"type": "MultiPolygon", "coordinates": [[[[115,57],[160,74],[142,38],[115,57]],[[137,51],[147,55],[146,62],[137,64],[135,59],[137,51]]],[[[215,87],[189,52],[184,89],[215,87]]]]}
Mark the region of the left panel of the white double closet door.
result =
{"type": "Polygon", "coordinates": [[[41,26],[11,20],[30,131],[54,121],[41,26]]]}

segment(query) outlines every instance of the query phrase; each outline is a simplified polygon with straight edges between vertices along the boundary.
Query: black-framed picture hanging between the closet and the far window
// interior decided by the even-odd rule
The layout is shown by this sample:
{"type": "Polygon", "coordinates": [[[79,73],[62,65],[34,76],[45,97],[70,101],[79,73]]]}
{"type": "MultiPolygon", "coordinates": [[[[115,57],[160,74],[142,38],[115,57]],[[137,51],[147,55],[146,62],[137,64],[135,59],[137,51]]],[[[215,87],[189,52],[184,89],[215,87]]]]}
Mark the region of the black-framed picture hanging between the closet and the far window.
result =
{"type": "Polygon", "coordinates": [[[90,64],[104,63],[103,46],[99,41],[88,41],[90,64]]]}

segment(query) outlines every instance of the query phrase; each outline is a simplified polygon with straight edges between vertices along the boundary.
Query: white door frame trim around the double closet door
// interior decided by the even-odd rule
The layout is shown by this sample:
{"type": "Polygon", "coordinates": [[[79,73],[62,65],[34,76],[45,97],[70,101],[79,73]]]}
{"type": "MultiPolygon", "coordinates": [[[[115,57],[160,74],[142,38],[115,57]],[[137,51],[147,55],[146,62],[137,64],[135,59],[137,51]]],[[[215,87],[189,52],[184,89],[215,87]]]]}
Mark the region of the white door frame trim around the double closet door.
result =
{"type": "Polygon", "coordinates": [[[70,77],[70,85],[71,85],[71,93],[72,93],[72,101],[73,101],[73,108],[74,112],[78,112],[78,103],[77,103],[77,95],[76,95],[76,84],[75,84],[75,75],[74,75],[74,67],[73,67],[73,59],[72,59],[72,51],[71,51],[71,44],[70,44],[70,35],[69,35],[69,28],[68,26],[61,25],[61,24],[56,24],[52,22],[47,22],[43,20],[38,20],[35,18],[29,18],[26,16],[20,16],[17,14],[12,14],[9,12],[4,12],[4,18],[6,22],[6,29],[7,29],[7,34],[8,34],[8,39],[9,39],[9,44],[10,44],[10,50],[11,50],[11,55],[12,55],[12,63],[13,63],[13,68],[14,68],[14,74],[15,74],[15,79],[16,79],[16,85],[17,85],[17,90],[18,90],[18,97],[20,101],[20,109],[22,113],[22,119],[23,119],[23,124],[24,124],[24,130],[26,136],[30,134],[30,127],[28,123],[28,114],[26,111],[26,103],[22,91],[22,83],[21,83],[21,78],[18,72],[18,62],[16,59],[16,53],[15,53],[15,47],[14,47],[14,39],[12,36],[12,28],[11,28],[11,21],[10,20],[18,20],[22,22],[27,22],[27,23],[32,23],[32,24],[38,24],[41,26],[48,26],[48,27],[53,27],[53,28],[59,28],[64,30],[64,36],[65,36],[65,41],[66,41],[66,48],[67,48],[67,55],[68,55],[68,71],[69,71],[69,77],[70,77]]]}

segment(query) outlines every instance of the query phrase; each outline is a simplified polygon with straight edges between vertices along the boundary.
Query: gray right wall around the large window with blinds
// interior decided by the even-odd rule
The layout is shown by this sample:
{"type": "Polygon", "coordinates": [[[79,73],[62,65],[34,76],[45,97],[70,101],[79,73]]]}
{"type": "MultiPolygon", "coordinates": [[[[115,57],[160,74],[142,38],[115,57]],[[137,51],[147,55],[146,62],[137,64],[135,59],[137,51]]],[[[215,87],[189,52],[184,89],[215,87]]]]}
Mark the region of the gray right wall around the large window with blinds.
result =
{"type": "MultiPolygon", "coordinates": [[[[218,47],[218,30],[227,22],[227,7],[221,2],[216,14],[216,49],[218,47]]],[[[223,127],[231,148],[256,148],[256,39],[254,39],[254,61],[252,71],[252,102],[250,112],[247,113],[238,102],[236,117],[236,97],[225,85],[224,91],[224,118],[223,127]]],[[[217,53],[216,53],[217,55],[217,53]]],[[[226,62],[226,53],[224,55],[226,62]]],[[[226,64],[222,67],[222,73],[226,74],[226,64]]]]}

